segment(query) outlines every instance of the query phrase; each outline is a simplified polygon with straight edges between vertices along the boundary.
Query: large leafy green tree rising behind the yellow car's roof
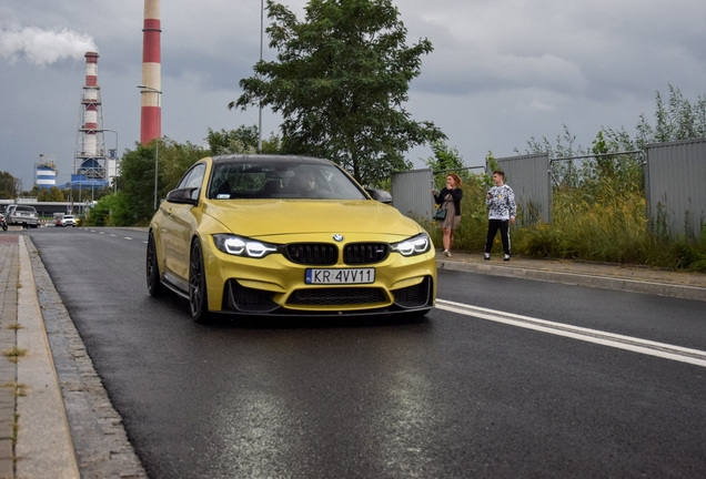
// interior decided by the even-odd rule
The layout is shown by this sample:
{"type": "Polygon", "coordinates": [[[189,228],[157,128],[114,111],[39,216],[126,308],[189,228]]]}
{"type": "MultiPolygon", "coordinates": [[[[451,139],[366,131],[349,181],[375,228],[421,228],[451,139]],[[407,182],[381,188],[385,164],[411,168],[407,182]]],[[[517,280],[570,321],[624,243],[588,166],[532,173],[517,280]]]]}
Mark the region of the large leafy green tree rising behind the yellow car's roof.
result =
{"type": "Polygon", "coordinates": [[[374,185],[409,170],[410,147],[446,136],[403,108],[432,43],[407,47],[391,0],[310,0],[305,21],[268,0],[266,29],[276,61],[260,61],[240,81],[229,109],[269,105],[284,118],[284,153],[332,160],[374,185]]]}

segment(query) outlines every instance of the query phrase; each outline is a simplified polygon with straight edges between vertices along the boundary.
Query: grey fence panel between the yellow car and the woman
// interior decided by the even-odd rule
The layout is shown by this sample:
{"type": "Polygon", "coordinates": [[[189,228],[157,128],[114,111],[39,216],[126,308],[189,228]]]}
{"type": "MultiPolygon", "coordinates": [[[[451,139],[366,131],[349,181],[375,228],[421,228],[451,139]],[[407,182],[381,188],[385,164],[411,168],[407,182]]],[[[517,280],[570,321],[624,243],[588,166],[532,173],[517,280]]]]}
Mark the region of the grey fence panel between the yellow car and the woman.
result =
{"type": "Polygon", "coordinates": [[[431,221],[434,213],[431,169],[392,174],[392,205],[415,221],[431,221]]]}

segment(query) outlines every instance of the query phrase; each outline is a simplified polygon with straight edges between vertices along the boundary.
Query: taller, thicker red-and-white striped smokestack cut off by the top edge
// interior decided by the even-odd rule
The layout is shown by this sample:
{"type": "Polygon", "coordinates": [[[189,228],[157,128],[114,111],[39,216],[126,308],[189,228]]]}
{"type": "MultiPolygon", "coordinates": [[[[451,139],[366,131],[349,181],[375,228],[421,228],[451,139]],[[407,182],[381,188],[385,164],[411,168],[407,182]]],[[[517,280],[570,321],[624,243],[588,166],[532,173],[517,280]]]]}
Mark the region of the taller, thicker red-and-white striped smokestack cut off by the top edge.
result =
{"type": "Polygon", "coordinates": [[[147,144],[162,137],[162,67],[160,34],[160,0],[144,0],[144,27],[142,29],[142,111],[140,120],[140,143],[147,144]]]}

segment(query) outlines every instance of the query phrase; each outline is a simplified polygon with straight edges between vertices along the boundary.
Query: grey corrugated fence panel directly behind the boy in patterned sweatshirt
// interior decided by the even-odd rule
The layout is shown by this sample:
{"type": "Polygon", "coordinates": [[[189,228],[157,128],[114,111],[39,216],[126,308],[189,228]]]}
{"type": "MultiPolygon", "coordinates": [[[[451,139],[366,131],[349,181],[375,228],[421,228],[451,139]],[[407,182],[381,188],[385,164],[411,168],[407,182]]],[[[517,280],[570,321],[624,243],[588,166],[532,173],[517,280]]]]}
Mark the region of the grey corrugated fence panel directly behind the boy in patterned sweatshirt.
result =
{"type": "MultiPolygon", "coordinates": [[[[523,212],[522,226],[538,220],[552,223],[552,179],[548,153],[497,159],[505,172],[505,183],[515,192],[517,208],[523,212]]],[[[492,174],[492,172],[487,172],[492,174]]]]}

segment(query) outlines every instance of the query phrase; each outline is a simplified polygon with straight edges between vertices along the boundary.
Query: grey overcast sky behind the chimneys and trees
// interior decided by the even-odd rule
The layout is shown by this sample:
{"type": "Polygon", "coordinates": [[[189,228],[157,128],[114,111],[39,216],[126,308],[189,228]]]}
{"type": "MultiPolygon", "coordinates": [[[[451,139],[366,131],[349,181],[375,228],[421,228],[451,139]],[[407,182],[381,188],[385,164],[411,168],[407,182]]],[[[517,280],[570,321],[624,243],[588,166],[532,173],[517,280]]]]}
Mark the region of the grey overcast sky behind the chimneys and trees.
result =
{"type": "MultiPolygon", "coordinates": [[[[303,19],[305,0],[285,0],[303,19]]],[[[706,94],[704,0],[397,0],[407,42],[427,38],[406,108],[433,121],[468,166],[554,141],[563,124],[588,146],[602,126],[654,125],[655,93],[706,94]]],[[[258,0],[162,0],[162,131],[203,144],[206,129],[258,122],[229,111],[260,54],[258,0]]],[[[33,182],[40,154],[68,181],[79,126],[83,54],[99,51],[107,147],[139,140],[143,0],[0,1],[0,171],[33,182]],[[115,136],[118,136],[115,139],[115,136]]],[[[265,17],[265,24],[268,19],[265,17]]],[[[268,50],[265,59],[275,52],[268,50]]],[[[280,119],[263,112],[263,133],[280,119]]],[[[428,147],[410,152],[423,166],[428,147]]]]}

